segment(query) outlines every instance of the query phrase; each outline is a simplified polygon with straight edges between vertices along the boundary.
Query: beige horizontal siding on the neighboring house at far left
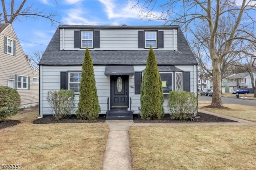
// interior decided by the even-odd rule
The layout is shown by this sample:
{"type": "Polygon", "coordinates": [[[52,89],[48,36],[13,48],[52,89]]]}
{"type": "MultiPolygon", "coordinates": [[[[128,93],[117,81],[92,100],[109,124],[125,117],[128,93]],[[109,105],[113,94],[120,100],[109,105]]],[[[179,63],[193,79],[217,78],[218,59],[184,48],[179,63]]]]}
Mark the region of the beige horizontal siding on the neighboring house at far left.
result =
{"type": "Polygon", "coordinates": [[[33,77],[39,78],[39,72],[30,67],[14,31],[6,28],[0,34],[0,85],[8,86],[8,79],[14,79],[11,75],[15,74],[30,77],[30,89],[17,90],[21,98],[21,107],[30,107],[38,104],[39,84],[33,83],[33,77]],[[15,56],[4,53],[4,36],[16,41],[15,56]]]}

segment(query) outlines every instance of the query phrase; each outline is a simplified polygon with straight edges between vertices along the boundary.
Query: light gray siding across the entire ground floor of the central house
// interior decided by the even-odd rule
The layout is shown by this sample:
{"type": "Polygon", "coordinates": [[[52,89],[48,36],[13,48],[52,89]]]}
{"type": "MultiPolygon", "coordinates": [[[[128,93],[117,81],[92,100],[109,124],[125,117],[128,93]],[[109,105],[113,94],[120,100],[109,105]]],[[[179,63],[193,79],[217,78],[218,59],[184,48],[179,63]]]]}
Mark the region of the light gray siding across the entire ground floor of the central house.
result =
{"type": "MultiPolygon", "coordinates": [[[[134,71],[144,70],[146,65],[134,65],[134,71]]],[[[194,65],[176,65],[177,68],[183,71],[190,71],[190,91],[196,94],[197,83],[196,80],[196,67],[194,65]],[[195,81],[194,81],[195,78],[195,81]]],[[[59,90],[60,89],[60,72],[61,71],[81,71],[81,66],[41,66],[42,75],[40,81],[42,82],[41,88],[41,114],[51,115],[51,108],[46,100],[47,92],[49,90],[59,90]]],[[[110,97],[110,76],[104,75],[105,66],[95,66],[94,74],[96,81],[96,88],[98,92],[98,99],[101,108],[101,114],[106,114],[107,111],[107,98],[110,97]]],[[[135,95],[135,89],[130,88],[130,86],[135,86],[134,75],[129,76],[129,97],[132,98],[132,111],[138,113],[138,107],[140,107],[140,94],[135,95]]],[[[129,98],[130,99],[130,98],[129,98]]],[[[79,95],[76,95],[76,107],[79,101],[79,95]]],[[[130,101],[129,101],[130,103],[130,101]]],[[[129,104],[130,107],[130,104],[129,104]]],[[[167,108],[167,95],[164,95],[164,111],[168,113],[167,108]]],[[[74,112],[73,112],[74,114],[74,112]]]]}

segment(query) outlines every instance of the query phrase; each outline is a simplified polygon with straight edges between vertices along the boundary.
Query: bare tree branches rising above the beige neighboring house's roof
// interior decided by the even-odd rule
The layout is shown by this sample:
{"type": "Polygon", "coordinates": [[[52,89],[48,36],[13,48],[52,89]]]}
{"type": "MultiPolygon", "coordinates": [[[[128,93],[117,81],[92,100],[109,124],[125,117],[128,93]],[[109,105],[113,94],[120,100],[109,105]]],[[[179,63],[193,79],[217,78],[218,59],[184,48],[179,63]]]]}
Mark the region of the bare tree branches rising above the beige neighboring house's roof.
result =
{"type": "MultiPolygon", "coordinates": [[[[56,23],[60,23],[54,18],[58,16],[56,12],[45,12],[44,10],[40,10],[39,7],[35,8],[33,4],[26,5],[27,0],[22,0],[22,2],[18,0],[5,1],[2,2],[2,13],[0,13],[0,23],[10,23],[14,22],[14,20],[21,21],[22,17],[31,17],[34,19],[38,18],[46,18],[50,20],[51,24],[55,25],[56,23]],[[19,3],[20,2],[20,3],[19,3]]],[[[57,1],[55,1],[57,3],[57,1]]]]}

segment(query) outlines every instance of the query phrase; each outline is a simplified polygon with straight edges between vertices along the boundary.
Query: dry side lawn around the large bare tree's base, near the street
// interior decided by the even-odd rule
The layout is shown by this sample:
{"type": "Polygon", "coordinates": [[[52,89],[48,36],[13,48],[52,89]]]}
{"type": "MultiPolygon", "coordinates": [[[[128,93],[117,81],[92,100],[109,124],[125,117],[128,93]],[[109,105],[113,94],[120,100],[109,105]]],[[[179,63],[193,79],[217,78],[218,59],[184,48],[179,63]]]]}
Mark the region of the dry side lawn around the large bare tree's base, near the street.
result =
{"type": "Polygon", "coordinates": [[[223,106],[228,107],[230,109],[213,109],[213,108],[203,107],[210,104],[211,104],[211,101],[198,101],[198,109],[256,122],[255,106],[224,104],[223,106]]]}

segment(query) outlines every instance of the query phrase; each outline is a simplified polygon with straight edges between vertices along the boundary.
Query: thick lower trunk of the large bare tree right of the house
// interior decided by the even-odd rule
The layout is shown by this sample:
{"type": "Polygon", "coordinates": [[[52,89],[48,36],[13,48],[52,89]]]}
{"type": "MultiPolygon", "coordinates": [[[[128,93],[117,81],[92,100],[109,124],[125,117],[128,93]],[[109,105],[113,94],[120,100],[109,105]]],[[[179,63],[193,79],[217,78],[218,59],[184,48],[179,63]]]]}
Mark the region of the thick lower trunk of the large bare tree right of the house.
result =
{"type": "Polygon", "coordinates": [[[221,75],[220,75],[220,61],[216,53],[212,57],[212,74],[213,74],[213,93],[212,95],[212,107],[222,107],[221,100],[221,75]]]}

